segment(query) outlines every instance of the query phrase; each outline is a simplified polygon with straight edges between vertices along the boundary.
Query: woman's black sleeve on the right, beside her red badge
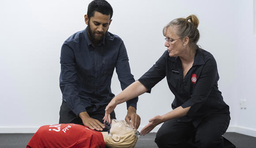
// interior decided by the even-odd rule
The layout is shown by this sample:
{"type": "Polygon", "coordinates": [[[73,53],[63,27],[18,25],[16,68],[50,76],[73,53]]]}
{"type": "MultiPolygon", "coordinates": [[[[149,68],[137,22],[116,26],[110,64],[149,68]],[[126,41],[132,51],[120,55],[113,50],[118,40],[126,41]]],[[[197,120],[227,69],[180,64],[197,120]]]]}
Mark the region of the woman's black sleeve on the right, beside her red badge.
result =
{"type": "Polygon", "coordinates": [[[207,100],[211,93],[211,89],[217,81],[217,75],[218,70],[216,61],[214,59],[208,60],[203,67],[200,78],[196,81],[191,98],[181,105],[183,108],[191,107],[187,113],[188,116],[193,117],[196,111],[199,110],[207,100]]]}

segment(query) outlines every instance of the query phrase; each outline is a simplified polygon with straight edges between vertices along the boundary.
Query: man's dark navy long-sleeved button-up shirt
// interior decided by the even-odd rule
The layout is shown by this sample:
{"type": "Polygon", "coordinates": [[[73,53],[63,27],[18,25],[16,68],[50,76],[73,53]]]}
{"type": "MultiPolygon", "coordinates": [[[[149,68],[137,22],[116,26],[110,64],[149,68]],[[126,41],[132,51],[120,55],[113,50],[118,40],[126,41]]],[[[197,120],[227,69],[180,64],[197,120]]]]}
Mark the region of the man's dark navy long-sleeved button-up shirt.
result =
{"type": "MultiPolygon", "coordinates": [[[[73,34],[62,45],[60,64],[62,99],[76,115],[89,108],[96,111],[115,96],[110,88],[115,68],[122,90],[135,81],[124,42],[109,32],[97,46],[87,29],[73,34]]],[[[136,108],[137,101],[138,97],[127,101],[127,107],[136,108]]]]}

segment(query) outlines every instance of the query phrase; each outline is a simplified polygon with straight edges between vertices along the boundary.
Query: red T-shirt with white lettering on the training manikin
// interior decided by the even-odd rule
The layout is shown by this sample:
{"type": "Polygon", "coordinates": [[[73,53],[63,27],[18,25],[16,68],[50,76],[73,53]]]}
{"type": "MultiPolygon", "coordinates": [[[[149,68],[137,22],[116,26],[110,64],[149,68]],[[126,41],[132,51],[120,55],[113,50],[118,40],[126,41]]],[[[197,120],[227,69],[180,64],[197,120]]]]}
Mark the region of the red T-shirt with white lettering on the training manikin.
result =
{"type": "Polygon", "coordinates": [[[78,124],[41,126],[26,148],[105,148],[101,132],[78,124]]]}

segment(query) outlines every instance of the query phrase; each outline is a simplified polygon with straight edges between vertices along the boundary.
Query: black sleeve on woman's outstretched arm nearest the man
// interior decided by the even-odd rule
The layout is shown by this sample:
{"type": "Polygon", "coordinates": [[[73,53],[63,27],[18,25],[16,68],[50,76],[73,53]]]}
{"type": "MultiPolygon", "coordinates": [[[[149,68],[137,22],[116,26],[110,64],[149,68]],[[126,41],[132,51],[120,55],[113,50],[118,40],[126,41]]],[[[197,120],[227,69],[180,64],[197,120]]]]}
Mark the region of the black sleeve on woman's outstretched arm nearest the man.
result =
{"type": "Polygon", "coordinates": [[[147,88],[147,93],[151,93],[151,89],[154,85],[166,77],[166,55],[168,55],[167,51],[164,52],[158,61],[139,78],[138,81],[147,88]]]}

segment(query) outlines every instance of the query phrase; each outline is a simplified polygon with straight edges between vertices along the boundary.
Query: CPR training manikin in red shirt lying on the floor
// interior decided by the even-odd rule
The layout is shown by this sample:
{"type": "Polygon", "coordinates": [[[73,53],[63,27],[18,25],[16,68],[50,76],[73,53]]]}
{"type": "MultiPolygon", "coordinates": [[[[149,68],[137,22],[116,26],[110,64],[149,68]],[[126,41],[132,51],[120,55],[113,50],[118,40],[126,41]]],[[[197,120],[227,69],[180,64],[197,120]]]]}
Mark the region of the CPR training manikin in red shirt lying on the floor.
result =
{"type": "Polygon", "coordinates": [[[26,148],[134,148],[139,132],[124,120],[113,120],[108,132],[97,132],[79,124],[41,126],[26,148]]]}

